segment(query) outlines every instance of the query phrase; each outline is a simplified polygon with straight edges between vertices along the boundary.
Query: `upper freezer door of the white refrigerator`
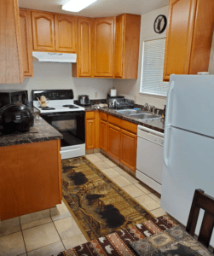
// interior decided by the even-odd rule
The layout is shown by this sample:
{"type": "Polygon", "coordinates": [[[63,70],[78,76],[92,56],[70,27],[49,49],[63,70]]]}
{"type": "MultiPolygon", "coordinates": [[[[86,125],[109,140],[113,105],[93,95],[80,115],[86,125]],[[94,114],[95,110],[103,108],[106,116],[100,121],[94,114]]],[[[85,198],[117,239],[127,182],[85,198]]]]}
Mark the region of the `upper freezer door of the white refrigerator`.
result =
{"type": "Polygon", "coordinates": [[[171,75],[165,126],[214,137],[214,75],[171,75]]]}

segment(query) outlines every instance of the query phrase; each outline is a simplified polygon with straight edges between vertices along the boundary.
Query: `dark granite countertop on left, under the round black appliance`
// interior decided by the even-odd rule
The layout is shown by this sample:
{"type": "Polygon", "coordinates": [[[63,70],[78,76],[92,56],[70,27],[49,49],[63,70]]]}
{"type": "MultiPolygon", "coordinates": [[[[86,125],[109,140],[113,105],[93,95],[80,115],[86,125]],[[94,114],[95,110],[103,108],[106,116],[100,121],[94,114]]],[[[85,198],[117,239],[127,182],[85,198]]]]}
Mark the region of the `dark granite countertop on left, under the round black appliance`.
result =
{"type": "Polygon", "coordinates": [[[34,126],[30,131],[4,135],[0,130],[0,147],[53,141],[62,138],[61,133],[56,131],[55,128],[49,125],[44,119],[37,114],[34,116],[34,126]]]}

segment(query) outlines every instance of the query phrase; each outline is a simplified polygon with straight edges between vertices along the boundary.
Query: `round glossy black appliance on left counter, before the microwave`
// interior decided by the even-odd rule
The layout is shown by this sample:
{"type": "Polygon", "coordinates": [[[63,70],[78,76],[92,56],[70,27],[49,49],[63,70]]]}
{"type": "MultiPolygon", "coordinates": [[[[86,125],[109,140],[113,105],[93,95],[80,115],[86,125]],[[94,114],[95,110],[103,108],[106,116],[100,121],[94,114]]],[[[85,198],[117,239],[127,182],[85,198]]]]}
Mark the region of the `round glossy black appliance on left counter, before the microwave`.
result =
{"type": "Polygon", "coordinates": [[[4,134],[29,131],[34,125],[32,112],[24,104],[6,105],[0,109],[0,125],[4,134]]]}

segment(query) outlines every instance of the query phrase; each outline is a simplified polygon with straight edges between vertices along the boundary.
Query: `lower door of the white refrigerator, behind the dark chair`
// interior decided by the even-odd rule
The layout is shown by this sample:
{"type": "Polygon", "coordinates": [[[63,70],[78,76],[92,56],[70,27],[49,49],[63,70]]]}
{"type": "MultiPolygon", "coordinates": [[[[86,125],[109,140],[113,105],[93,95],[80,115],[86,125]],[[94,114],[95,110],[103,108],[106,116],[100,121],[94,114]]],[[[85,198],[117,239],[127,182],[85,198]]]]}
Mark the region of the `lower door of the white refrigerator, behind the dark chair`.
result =
{"type": "MultiPolygon", "coordinates": [[[[194,190],[214,197],[214,139],[174,127],[166,133],[161,207],[186,226],[194,190]]],[[[200,224],[202,217],[200,212],[200,224]]]]}

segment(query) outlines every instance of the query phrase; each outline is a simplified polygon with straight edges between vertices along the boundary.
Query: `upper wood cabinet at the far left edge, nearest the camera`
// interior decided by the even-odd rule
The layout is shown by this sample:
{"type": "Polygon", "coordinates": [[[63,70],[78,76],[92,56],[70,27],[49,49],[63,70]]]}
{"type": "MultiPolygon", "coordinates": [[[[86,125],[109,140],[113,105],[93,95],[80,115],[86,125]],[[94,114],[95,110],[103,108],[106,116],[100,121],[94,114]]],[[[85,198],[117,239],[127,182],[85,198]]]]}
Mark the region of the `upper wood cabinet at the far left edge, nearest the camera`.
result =
{"type": "Polygon", "coordinates": [[[21,84],[24,79],[17,0],[0,1],[0,84],[21,84]]]}

